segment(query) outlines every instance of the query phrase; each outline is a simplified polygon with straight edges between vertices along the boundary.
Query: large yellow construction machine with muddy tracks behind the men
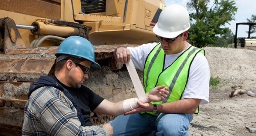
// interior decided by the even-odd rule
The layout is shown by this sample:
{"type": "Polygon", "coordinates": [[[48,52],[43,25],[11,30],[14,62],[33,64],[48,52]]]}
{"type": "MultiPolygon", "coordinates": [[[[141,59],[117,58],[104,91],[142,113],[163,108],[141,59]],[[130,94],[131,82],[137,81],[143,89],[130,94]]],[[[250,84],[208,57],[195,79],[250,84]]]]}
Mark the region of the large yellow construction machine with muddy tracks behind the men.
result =
{"type": "Polygon", "coordinates": [[[116,71],[123,66],[114,60],[116,47],[156,40],[152,29],[164,4],[164,0],[1,0],[0,135],[21,135],[30,83],[53,74],[54,53],[61,41],[71,35],[87,38],[95,47],[96,62],[116,71]]]}

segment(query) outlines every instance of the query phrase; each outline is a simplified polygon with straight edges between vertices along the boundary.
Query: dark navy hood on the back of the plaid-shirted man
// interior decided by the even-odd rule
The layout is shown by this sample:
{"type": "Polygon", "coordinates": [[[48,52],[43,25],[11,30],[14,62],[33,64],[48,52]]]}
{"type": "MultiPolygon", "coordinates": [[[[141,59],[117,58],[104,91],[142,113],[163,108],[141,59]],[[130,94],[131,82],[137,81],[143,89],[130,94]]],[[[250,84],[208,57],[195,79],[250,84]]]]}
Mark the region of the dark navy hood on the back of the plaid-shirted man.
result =
{"type": "Polygon", "coordinates": [[[30,85],[29,91],[28,91],[28,98],[30,97],[33,91],[43,86],[52,86],[57,89],[64,90],[64,88],[53,78],[48,76],[40,76],[38,81],[30,85]]]}

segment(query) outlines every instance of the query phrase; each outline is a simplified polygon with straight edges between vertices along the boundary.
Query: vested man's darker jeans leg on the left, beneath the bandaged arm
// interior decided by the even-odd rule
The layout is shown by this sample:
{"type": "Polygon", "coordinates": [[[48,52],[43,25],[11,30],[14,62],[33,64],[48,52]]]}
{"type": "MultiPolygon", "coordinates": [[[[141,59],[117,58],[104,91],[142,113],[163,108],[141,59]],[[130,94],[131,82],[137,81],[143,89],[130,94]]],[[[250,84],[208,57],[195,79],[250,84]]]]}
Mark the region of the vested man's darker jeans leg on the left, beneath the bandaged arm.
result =
{"type": "Polygon", "coordinates": [[[156,126],[150,125],[156,116],[148,114],[119,115],[109,123],[113,126],[113,136],[137,136],[141,133],[156,131],[156,126]]]}

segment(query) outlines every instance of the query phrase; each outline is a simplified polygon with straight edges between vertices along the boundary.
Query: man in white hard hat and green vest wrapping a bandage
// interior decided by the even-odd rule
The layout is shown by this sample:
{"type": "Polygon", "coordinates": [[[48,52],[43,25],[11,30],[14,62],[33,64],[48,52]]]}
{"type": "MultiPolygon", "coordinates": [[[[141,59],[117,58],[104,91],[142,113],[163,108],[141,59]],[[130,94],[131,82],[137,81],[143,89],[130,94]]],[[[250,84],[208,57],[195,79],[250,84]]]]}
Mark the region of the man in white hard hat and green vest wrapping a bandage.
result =
{"type": "Polygon", "coordinates": [[[116,60],[126,63],[132,59],[144,71],[145,92],[165,85],[169,95],[160,102],[138,102],[139,108],[117,116],[110,122],[113,136],[189,136],[199,104],[209,103],[210,80],[205,51],[186,41],[189,29],[187,9],[172,4],[163,9],[153,28],[159,43],[116,48],[116,60]]]}

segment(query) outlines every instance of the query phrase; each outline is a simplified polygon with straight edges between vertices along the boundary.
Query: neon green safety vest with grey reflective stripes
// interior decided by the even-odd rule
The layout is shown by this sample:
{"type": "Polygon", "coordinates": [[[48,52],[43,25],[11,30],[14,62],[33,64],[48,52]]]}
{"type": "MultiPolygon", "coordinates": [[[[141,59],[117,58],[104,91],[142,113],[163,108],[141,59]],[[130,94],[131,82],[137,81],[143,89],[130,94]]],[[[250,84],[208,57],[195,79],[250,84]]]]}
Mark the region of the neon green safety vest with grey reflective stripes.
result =
{"type": "MultiPolygon", "coordinates": [[[[169,103],[181,99],[186,88],[190,65],[199,52],[202,54],[205,53],[204,50],[191,46],[178,56],[171,65],[164,69],[166,55],[160,44],[154,47],[145,62],[144,89],[146,92],[149,92],[155,86],[165,85],[169,87],[169,95],[164,101],[151,103],[169,103]]],[[[148,113],[154,114],[153,112],[148,113]]],[[[195,113],[198,113],[198,108],[195,113]]]]}

